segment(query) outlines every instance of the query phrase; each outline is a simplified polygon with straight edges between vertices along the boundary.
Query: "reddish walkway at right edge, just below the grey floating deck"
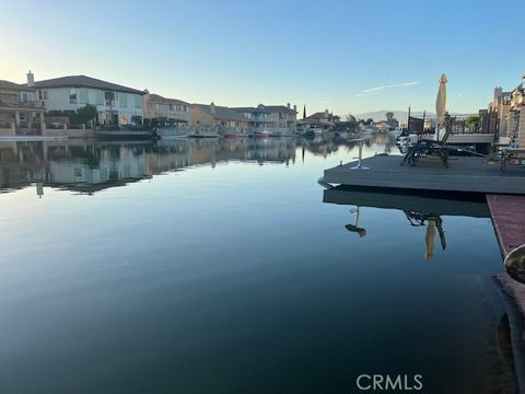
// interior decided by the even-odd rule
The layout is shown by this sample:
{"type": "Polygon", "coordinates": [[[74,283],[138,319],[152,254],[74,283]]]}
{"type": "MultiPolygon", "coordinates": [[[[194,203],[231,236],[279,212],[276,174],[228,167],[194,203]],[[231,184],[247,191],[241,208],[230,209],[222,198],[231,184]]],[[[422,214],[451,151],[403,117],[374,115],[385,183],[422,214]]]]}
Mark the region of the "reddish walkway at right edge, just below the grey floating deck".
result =
{"type": "Polygon", "coordinates": [[[492,223],[503,258],[525,244],[525,196],[487,195],[492,223]]]}

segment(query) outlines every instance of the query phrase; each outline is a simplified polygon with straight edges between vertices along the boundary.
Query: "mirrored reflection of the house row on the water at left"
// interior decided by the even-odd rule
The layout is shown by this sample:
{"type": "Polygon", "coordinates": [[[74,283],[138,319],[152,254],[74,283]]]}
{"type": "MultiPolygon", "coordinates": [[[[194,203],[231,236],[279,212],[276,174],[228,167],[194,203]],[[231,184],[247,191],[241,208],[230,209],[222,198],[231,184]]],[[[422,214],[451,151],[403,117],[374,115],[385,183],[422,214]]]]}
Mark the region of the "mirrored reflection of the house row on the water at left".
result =
{"type": "Polygon", "coordinates": [[[124,186],[155,174],[196,165],[295,161],[295,139],[180,139],[152,142],[67,140],[0,142],[0,192],[36,186],[81,194],[124,186]]]}

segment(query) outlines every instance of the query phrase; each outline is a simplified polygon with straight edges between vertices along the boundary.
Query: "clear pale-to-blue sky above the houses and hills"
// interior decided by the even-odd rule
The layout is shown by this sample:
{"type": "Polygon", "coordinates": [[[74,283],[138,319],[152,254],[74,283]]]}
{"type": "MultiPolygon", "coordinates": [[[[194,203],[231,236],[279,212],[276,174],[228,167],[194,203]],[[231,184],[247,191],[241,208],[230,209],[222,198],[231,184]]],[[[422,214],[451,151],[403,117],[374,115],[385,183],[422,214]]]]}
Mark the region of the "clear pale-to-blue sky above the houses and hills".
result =
{"type": "Polygon", "coordinates": [[[522,1],[2,1],[0,79],[86,74],[308,113],[486,107],[525,72],[522,1]]]}

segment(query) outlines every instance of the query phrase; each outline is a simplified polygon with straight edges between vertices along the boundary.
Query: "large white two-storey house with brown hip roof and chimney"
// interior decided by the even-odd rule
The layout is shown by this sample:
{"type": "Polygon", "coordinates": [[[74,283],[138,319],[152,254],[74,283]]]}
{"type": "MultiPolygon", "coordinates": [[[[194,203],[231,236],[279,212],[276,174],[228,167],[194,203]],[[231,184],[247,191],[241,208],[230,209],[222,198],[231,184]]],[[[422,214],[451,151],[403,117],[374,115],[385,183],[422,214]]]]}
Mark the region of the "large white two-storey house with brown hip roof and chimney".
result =
{"type": "Polygon", "coordinates": [[[145,92],[106,82],[86,76],[60,77],[34,81],[27,74],[27,84],[36,89],[38,101],[46,111],[77,111],[86,104],[96,106],[101,125],[142,123],[142,95],[145,92]]]}

